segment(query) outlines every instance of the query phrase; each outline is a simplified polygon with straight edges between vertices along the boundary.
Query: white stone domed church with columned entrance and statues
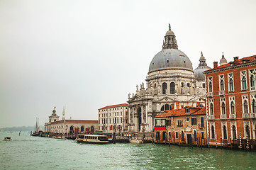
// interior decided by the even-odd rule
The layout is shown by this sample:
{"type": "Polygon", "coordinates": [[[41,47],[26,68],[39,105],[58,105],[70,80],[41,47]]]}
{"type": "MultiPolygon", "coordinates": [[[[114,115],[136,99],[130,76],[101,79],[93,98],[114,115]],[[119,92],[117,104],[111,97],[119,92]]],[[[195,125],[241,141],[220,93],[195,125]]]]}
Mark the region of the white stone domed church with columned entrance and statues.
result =
{"type": "Polygon", "coordinates": [[[162,50],[150,62],[148,77],[128,94],[128,131],[152,132],[153,118],[167,110],[184,106],[205,106],[206,87],[203,72],[211,69],[201,52],[199,67],[193,70],[189,57],[178,50],[169,26],[162,50]]]}

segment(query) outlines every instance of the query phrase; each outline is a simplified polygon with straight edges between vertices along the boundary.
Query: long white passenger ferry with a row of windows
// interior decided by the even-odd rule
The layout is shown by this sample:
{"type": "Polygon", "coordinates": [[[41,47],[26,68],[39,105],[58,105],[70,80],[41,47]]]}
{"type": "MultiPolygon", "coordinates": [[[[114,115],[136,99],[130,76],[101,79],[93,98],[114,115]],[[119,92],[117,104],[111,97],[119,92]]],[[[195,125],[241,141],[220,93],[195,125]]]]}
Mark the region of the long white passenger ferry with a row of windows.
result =
{"type": "Polygon", "coordinates": [[[79,135],[77,135],[76,140],[77,140],[77,142],[106,144],[106,143],[108,143],[108,136],[79,134],[79,135]]]}

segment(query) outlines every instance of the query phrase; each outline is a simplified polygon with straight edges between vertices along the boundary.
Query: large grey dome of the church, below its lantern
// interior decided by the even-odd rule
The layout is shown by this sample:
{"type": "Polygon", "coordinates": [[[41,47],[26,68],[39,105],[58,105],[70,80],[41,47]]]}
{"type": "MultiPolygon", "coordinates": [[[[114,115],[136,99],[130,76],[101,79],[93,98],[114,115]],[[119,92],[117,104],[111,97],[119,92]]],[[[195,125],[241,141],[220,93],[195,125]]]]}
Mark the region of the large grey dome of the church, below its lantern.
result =
{"type": "Polygon", "coordinates": [[[189,69],[193,71],[189,57],[184,52],[174,48],[163,49],[152,59],[149,72],[160,69],[189,69]]]}

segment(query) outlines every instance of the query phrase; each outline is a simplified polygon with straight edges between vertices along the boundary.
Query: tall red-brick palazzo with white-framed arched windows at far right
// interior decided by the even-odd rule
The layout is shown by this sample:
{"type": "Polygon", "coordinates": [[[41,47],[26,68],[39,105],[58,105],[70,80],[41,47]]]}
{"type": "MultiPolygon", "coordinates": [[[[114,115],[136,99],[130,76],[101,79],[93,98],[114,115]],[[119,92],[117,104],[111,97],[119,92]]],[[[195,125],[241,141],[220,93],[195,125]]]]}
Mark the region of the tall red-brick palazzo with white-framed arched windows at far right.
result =
{"type": "Polygon", "coordinates": [[[213,67],[204,72],[209,144],[239,145],[240,136],[255,139],[256,55],[213,67]]]}

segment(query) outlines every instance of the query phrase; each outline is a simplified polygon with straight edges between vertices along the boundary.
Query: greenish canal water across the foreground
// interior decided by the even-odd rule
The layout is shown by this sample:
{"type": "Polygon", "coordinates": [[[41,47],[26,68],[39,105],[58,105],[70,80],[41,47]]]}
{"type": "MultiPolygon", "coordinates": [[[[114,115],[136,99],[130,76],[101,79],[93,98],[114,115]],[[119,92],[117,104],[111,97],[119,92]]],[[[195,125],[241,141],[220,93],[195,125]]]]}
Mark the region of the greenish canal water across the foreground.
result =
{"type": "Polygon", "coordinates": [[[0,169],[256,169],[256,152],[153,144],[81,144],[0,132],[0,169]],[[11,141],[4,141],[9,136],[11,141]]]}

